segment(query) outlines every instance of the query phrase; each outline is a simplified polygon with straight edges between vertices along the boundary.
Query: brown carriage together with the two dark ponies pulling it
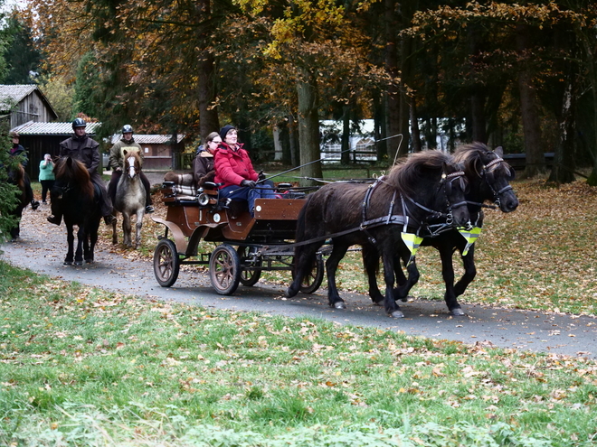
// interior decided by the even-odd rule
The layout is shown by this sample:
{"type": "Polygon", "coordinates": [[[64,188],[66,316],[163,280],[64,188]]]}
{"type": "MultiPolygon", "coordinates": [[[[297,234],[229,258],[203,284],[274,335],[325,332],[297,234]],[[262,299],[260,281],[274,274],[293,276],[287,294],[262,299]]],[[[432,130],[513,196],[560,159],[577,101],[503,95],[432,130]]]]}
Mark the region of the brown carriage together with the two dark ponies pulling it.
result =
{"type": "Polygon", "coordinates": [[[209,265],[216,292],[230,294],[239,283],[255,284],[263,270],[292,270],[286,295],[312,293],[323,278],[324,247],[329,254],[328,302],[344,309],[336,289],[336,269],[348,247],[359,245],[373,302],[383,303],[390,316],[402,318],[396,301],[404,301],[419,279],[414,253],[422,244],[440,250],[444,299],[450,313],[464,315],[457,297],[476,274],[472,244],[483,225],[484,202],[495,201],[503,212],[518,206],[509,185],[514,172],[501,155],[501,148],[494,152],[479,143],[460,147],[454,156],[440,151],[412,154],[369,184],[331,183],[307,200],[258,199],[254,218],[248,210],[234,210],[234,202],[223,202],[217,191],[185,195],[174,183],[165,184],[167,216],[154,219],[166,226],[154,255],[157,281],[171,286],[181,264],[204,264],[209,265]],[[211,253],[199,254],[201,240],[219,245],[211,253]],[[451,258],[456,250],[465,274],[454,284],[451,258]],[[384,295],[376,283],[380,257],[384,295]]]}

